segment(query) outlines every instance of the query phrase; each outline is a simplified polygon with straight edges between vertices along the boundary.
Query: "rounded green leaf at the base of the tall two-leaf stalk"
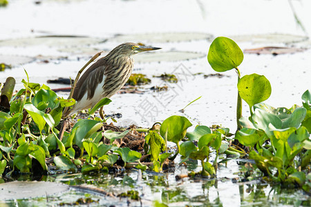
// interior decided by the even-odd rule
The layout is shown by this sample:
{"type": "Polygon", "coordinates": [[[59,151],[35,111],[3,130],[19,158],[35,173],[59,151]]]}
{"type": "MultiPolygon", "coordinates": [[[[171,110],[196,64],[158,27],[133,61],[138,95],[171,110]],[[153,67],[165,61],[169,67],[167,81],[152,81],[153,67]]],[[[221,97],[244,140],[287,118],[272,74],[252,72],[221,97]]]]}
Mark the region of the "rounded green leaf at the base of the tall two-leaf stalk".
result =
{"type": "Polygon", "coordinates": [[[238,141],[244,146],[250,146],[252,148],[258,143],[260,138],[261,137],[256,133],[256,130],[251,128],[242,128],[236,132],[236,137],[234,137],[234,139],[238,139],[238,141]]]}

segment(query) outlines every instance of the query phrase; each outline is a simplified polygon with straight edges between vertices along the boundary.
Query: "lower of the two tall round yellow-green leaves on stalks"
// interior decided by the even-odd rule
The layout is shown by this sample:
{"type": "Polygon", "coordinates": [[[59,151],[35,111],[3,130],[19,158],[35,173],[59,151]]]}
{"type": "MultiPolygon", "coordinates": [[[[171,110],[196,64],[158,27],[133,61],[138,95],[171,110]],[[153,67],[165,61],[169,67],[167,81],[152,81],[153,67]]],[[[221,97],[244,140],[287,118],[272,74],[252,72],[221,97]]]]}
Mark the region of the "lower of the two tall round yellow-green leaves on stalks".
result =
{"type": "Polygon", "coordinates": [[[252,107],[270,97],[271,85],[263,75],[245,75],[238,80],[238,93],[252,107]]]}

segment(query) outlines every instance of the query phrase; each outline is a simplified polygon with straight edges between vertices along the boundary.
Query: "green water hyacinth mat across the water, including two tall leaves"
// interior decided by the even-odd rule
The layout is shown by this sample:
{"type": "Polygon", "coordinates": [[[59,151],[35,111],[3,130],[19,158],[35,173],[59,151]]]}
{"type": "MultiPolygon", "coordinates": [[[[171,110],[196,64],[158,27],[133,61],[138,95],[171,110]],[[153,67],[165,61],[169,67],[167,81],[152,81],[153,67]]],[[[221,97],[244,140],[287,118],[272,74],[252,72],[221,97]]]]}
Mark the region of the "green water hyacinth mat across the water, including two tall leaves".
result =
{"type": "MultiPolygon", "coordinates": [[[[161,179],[158,175],[174,169],[177,166],[174,161],[179,156],[178,165],[196,161],[200,164],[200,172],[189,170],[176,179],[211,179],[217,176],[218,165],[227,163],[229,159],[239,159],[245,164],[238,177],[232,179],[233,183],[281,184],[283,188],[299,188],[310,194],[310,91],[303,93],[301,107],[274,108],[263,103],[272,92],[270,81],[265,76],[241,76],[238,66],[243,62],[243,52],[232,39],[216,38],[211,43],[207,58],[217,72],[234,69],[238,74],[238,129],[234,135],[229,128],[219,126],[198,125],[190,130],[193,123],[178,115],[154,124],[157,128],[117,128],[106,123],[108,118],[93,116],[95,110],[111,102],[105,98],[88,111],[85,119],[70,120],[72,127],[60,136],[62,112],[64,108],[73,106],[75,101],[57,97],[48,86],[31,83],[26,73],[27,80],[22,81],[24,88],[16,95],[10,95],[12,88],[8,92],[1,90],[1,95],[8,94],[10,101],[8,111],[0,111],[0,175],[11,177],[13,174],[59,172],[97,175],[136,168],[139,172],[148,170],[161,179]],[[242,117],[242,99],[249,106],[249,117],[242,117]],[[168,141],[173,146],[168,146],[168,141]]],[[[146,79],[141,74],[133,77],[135,84],[146,79]]],[[[164,74],[161,78],[167,77],[170,80],[172,75],[164,74]]],[[[198,99],[200,97],[194,101],[198,99]]],[[[123,174],[120,182],[134,186],[135,181],[126,176],[123,174]]],[[[137,180],[142,180],[140,175],[137,180]]],[[[211,179],[210,185],[216,186],[216,181],[211,179]]],[[[115,180],[109,185],[117,186],[120,182],[115,180]]],[[[171,192],[162,192],[163,195],[166,193],[169,197],[171,192]]],[[[174,196],[181,195],[182,190],[175,189],[173,193],[174,196]]],[[[119,196],[141,199],[136,190],[127,190],[119,196]]],[[[77,204],[93,202],[97,203],[93,199],[77,200],[77,204]]]]}

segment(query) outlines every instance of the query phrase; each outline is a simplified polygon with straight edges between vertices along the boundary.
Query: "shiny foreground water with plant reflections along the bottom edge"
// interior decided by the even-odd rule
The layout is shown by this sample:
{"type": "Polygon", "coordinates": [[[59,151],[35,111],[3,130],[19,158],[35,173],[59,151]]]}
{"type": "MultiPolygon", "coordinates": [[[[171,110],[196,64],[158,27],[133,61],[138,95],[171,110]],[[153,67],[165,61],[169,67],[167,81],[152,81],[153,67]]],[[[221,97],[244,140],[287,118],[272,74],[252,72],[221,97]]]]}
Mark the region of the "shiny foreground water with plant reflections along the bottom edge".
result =
{"type": "MultiPolygon", "coordinates": [[[[178,181],[175,175],[186,172],[185,166],[176,166],[174,173],[154,173],[131,170],[120,174],[109,174],[108,172],[95,175],[62,174],[41,177],[41,181],[56,181],[70,186],[88,184],[96,188],[102,188],[114,195],[127,192],[127,190],[138,191],[140,201],[132,201],[127,198],[102,197],[93,193],[69,190],[62,195],[54,195],[48,198],[21,199],[16,201],[0,202],[0,206],[45,206],[59,205],[62,202],[75,202],[79,198],[92,197],[99,203],[90,206],[153,206],[158,201],[168,206],[310,206],[310,197],[302,190],[285,189],[280,185],[270,186],[261,181],[247,181],[236,183],[236,176],[232,169],[241,169],[236,161],[228,163],[227,167],[220,166],[218,179],[189,179],[183,178],[178,181]],[[232,177],[228,177],[231,175],[232,177]],[[52,202],[51,202],[52,201],[52,202]]],[[[187,168],[200,169],[196,163],[191,162],[187,168]]],[[[31,180],[29,176],[19,177],[19,180],[31,180]]]]}

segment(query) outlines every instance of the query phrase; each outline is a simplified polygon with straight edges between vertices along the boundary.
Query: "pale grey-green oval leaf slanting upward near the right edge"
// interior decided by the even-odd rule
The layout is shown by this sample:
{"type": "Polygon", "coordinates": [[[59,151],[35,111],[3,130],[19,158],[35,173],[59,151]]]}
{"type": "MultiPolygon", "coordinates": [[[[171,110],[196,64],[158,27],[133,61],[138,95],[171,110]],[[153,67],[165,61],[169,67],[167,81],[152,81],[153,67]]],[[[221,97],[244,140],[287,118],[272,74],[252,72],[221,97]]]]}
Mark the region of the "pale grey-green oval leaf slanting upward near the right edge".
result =
{"type": "Polygon", "coordinates": [[[282,128],[299,128],[306,114],[307,110],[305,108],[296,108],[288,118],[282,120],[282,128]]]}

